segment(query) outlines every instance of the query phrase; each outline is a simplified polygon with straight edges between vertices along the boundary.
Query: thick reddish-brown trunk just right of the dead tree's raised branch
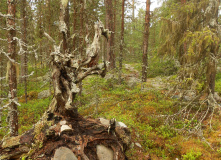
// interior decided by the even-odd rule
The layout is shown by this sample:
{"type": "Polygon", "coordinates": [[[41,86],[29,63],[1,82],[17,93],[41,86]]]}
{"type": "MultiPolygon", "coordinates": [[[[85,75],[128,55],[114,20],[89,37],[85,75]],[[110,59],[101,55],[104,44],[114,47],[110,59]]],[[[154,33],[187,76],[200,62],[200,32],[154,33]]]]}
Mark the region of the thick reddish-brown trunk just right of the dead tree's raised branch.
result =
{"type": "MultiPolygon", "coordinates": [[[[113,5],[112,0],[105,0],[106,6],[106,28],[113,31],[113,5]]],[[[113,52],[114,34],[110,34],[107,41],[107,61],[110,62],[109,68],[115,68],[115,55],[113,52]]]]}

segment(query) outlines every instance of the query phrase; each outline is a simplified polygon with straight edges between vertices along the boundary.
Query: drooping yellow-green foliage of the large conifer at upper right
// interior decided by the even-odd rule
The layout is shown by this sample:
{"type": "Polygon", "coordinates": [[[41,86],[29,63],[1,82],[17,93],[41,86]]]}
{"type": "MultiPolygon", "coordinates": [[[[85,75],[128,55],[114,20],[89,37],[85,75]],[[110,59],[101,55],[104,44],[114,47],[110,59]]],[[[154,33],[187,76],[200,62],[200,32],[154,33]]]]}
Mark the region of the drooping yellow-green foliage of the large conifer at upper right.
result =
{"type": "MultiPolygon", "coordinates": [[[[193,78],[193,82],[198,80],[203,83],[203,89],[212,86],[207,82],[214,79],[210,74],[215,70],[214,59],[219,57],[218,28],[209,27],[213,16],[202,14],[202,10],[209,9],[209,3],[208,0],[190,0],[185,5],[174,0],[165,2],[161,8],[162,41],[158,49],[159,54],[178,58],[181,64],[178,72],[180,79],[186,81],[185,78],[193,78]]],[[[218,8],[214,6],[209,15],[215,16],[216,12],[218,8]]],[[[193,89],[193,83],[178,83],[185,89],[193,89]]]]}

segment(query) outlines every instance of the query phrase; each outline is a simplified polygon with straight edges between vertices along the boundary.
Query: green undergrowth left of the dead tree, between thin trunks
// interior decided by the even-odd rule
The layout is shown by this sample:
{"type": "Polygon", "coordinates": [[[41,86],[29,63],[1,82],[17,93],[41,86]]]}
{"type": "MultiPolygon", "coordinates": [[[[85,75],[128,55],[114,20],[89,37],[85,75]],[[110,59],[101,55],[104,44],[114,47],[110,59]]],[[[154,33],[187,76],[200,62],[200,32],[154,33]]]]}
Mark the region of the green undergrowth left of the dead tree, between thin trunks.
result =
{"type": "MultiPolygon", "coordinates": [[[[34,68],[29,67],[29,73],[34,68]]],[[[44,76],[48,72],[47,68],[37,68],[37,76],[44,76]]],[[[17,86],[18,102],[21,106],[18,106],[18,121],[19,121],[19,134],[32,128],[45,110],[48,108],[51,97],[45,99],[38,99],[38,93],[49,89],[49,82],[44,81],[30,81],[36,76],[30,76],[27,81],[27,104],[25,103],[25,88],[24,83],[19,82],[17,86]]],[[[4,101],[3,105],[8,102],[4,101]]],[[[4,137],[8,133],[8,110],[3,110],[2,123],[0,124],[0,138],[4,137]]]]}

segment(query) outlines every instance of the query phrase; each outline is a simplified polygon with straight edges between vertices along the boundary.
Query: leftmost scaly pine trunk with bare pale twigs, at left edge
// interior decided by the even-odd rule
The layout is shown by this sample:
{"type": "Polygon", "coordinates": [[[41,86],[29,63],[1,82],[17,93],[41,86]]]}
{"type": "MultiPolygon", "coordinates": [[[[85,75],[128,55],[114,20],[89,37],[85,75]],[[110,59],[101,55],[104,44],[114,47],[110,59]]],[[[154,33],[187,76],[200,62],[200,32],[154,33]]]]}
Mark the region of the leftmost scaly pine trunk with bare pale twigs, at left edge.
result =
{"type": "Polygon", "coordinates": [[[10,127],[10,136],[18,135],[18,115],[17,115],[17,73],[16,73],[16,40],[14,37],[16,36],[15,29],[15,13],[16,13],[16,4],[13,0],[8,0],[8,14],[10,15],[7,18],[7,25],[10,27],[8,32],[8,53],[9,57],[14,62],[8,62],[10,65],[9,68],[9,127],[10,127]]]}

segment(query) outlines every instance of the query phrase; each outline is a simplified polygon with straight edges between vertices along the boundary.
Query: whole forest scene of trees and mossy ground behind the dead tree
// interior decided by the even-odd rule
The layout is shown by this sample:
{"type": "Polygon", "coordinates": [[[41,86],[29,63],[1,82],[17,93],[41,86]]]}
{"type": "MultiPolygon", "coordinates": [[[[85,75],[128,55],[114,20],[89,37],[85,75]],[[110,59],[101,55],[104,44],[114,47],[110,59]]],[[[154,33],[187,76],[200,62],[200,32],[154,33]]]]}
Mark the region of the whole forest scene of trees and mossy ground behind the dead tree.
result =
{"type": "Polygon", "coordinates": [[[30,130],[47,110],[55,44],[80,64],[103,22],[109,32],[88,65],[108,61],[108,71],[79,82],[79,113],[125,123],[129,159],[220,159],[220,1],[164,0],[150,11],[147,0],[135,15],[138,3],[1,0],[0,138],[30,130]]]}

